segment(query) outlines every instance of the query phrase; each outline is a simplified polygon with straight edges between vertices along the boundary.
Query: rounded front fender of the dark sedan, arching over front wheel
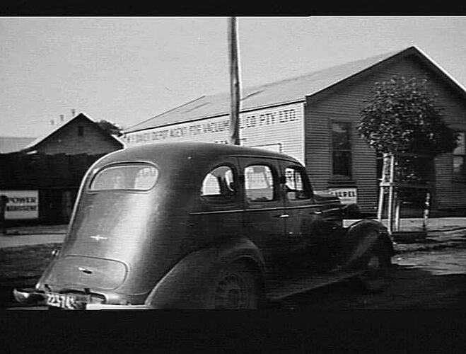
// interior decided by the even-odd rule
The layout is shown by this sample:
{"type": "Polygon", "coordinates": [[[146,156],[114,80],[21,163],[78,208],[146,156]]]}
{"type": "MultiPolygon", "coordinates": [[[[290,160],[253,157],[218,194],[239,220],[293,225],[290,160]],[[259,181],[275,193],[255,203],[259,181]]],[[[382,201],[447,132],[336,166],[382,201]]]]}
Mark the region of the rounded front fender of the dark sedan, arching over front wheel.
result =
{"type": "Polygon", "coordinates": [[[362,219],[348,227],[342,240],[342,258],[352,264],[366,256],[376,245],[388,247],[394,253],[393,244],[387,228],[373,219],[362,219]]]}

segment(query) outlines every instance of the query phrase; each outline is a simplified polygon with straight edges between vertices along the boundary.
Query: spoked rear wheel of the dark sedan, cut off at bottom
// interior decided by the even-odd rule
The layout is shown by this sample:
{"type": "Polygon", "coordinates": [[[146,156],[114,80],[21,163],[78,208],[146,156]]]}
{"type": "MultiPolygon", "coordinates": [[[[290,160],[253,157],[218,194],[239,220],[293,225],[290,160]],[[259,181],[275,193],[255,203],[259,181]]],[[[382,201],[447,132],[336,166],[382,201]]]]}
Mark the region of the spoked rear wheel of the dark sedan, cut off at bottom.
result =
{"type": "Polygon", "coordinates": [[[221,270],[215,285],[215,309],[257,309],[260,287],[257,277],[244,263],[221,270]]]}

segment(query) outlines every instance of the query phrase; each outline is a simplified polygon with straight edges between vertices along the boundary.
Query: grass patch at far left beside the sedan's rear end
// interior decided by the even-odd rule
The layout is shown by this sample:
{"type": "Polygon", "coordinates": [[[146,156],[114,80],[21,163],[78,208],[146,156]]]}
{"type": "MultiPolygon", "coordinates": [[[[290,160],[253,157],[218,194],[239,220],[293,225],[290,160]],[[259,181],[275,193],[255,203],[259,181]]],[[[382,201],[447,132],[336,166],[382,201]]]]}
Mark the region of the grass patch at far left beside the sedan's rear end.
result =
{"type": "Polygon", "coordinates": [[[52,250],[62,244],[40,244],[0,249],[0,282],[40,277],[52,261],[52,250]]]}

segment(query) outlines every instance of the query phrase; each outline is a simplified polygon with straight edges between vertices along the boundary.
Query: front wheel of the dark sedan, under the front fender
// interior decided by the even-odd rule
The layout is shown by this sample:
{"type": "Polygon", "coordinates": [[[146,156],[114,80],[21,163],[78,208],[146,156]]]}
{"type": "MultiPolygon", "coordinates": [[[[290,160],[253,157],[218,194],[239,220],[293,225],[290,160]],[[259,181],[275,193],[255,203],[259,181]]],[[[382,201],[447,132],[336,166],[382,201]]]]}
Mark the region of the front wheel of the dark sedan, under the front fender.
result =
{"type": "Polygon", "coordinates": [[[359,276],[359,282],[366,292],[381,292],[390,284],[392,258],[390,250],[377,244],[368,254],[366,270],[359,276]]]}

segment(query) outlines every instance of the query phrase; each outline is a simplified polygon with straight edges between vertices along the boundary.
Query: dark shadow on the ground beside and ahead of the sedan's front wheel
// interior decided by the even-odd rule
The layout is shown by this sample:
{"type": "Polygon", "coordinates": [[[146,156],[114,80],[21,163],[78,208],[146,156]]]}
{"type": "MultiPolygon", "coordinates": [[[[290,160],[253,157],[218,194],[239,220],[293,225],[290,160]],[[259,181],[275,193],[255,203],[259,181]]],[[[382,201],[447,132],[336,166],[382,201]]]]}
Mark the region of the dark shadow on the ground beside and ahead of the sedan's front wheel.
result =
{"type": "Polygon", "coordinates": [[[434,275],[411,266],[393,265],[392,282],[379,293],[366,293],[346,280],[271,305],[291,310],[464,309],[466,274],[434,275]]]}

